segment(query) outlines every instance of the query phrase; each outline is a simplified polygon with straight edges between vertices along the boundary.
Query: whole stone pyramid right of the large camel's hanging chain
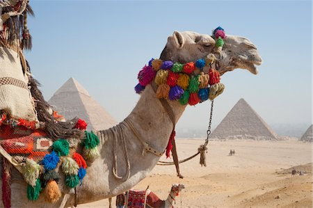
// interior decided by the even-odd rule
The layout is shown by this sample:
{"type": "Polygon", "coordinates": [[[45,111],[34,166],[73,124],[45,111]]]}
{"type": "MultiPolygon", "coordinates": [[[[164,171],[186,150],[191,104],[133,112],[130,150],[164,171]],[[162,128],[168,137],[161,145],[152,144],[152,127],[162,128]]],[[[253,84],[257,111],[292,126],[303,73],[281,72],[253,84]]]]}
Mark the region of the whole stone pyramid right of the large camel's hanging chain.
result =
{"type": "Polygon", "coordinates": [[[210,138],[276,140],[278,136],[241,98],[214,129],[210,138]]]}

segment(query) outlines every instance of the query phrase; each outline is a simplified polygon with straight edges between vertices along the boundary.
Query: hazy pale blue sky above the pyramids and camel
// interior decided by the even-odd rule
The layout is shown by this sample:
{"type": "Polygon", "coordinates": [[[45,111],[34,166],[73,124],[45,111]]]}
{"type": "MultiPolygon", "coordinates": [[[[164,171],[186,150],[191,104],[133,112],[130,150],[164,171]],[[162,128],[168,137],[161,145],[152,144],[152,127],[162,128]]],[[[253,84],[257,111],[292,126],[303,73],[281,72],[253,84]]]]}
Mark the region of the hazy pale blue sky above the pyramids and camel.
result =
{"type": "MultiPolygon", "coordinates": [[[[121,121],[134,108],[141,67],[173,31],[249,38],[264,63],[223,75],[214,126],[243,97],[269,124],[312,122],[311,1],[31,1],[26,53],[45,99],[70,77],[121,121]]],[[[207,127],[209,102],[188,106],[178,127],[207,127]]],[[[205,131],[205,130],[204,130],[205,131]]]]}

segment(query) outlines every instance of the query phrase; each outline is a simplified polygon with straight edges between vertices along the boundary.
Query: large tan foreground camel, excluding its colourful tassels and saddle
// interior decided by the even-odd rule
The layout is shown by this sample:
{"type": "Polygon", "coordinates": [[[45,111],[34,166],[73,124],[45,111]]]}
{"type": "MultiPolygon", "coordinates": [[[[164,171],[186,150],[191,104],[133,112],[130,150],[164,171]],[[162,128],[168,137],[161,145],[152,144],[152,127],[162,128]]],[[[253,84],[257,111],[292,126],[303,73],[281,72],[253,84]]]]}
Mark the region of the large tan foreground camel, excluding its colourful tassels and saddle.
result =
{"type": "MultiPolygon", "coordinates": [[[[262,63],[257,48],[247,38],[227,35],[223,50],[215,47],[216,40],[211,35],[191,31],[175,31],[168,37],[166,46],[160,58],[180,63],[205,58],[209,54],[216,56],[215,67],[221,75],[237,68],[246,69],[257,74],[256,65],[262,63]]],[[[1,47],[1,45],[0,45],[1,47]]],[[[10,51],[13,57],[17,54],[10,51]]],[[[204,72],[209,68],[204,67],[204,72]]],[[[130,86],[129,86],[130,87],[130,86]]],[[[175,123],[179,120],[186,106],[177,101],[166,101],[175,115],[175,123]]],[[[77,186],[77,203],[84,204],[104,198],[111,198],[123,193],[147,177],[157,165],[161,155],[145,151],[145,147],[157,152],[164,152],[168,138],[172,132],[172,120],[169,118],[159,99],[157,99],[152,85],[146,86],[135,108],[111,129],[97,132],[100,144],[100,157],[88,167],[87,175],[81,186],[77,186]],[[141,140],[138,139],[138,136],[141,140]],[[148,146],[147,146],[148,145],[148,146]],[[119,151],[118,151],[119,150],[119,151]]],[[[61,173],[61,171],[60,171],[61,173]]],[[[69,190],[64,183],[61,173],[59,187],[66,196],[54,204],[45,202],[42,195],[34,202],[26,198],[26,182],[22,175],[13,168],[12,173],[12,207],[65,207],[75,204],[75,195],[68,195],[69,190]]],[[[2,194],[2,191],[0,191],[2,194]]]]}

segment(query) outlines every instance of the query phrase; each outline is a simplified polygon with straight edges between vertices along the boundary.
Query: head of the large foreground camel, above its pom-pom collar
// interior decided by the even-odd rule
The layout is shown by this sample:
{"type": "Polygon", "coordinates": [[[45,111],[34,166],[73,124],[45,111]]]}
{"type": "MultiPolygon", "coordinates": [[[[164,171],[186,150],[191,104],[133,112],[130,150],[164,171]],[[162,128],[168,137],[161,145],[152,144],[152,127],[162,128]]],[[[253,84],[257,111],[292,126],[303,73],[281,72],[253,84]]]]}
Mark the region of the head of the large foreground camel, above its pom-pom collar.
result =
{"type": "Polygon", "coordinates": [[[227,35],[222,51],[218,50],[214,36],[191,31],[175,31],[161,53],[163,61],[177,61],[187,63],[199,58],[206,58],[209,54],[216,56],[216,69],[220,74],[230,72],[236,68],[249,70],[257,74],[257,67],[261,65],[257,47],[247,38],[227,35]]]}

